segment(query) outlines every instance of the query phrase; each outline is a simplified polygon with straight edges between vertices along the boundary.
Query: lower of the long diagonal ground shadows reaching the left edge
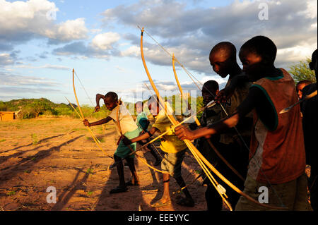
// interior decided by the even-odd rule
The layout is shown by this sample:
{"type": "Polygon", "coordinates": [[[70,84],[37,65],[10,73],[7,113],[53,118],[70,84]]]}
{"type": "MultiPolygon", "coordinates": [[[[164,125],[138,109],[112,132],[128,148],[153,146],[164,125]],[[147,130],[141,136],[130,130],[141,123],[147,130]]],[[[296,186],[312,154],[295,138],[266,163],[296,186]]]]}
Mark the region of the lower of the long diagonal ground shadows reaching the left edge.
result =
{"type": "Polygon", "coordinates": [[[5,181],[8,181],[9,179],[16,176],[16,174],[18,174],[20,171],[31,171],[33,169],[33,166],[35,166],[37,162],[40,162],[46,157],[49,157],[53,151],[59,152],[63,145],[67,145],[69,142],[73,142],[83,136],[84,135],[80,135],[71,140],[67,140],[66,142],[61,143],[61,145],[50,147],[48,150],[41,150],[37,152],[37,154],[33,155],[32,159],[22,159],[20,162],[18,162],[18,164],[14,166],[8,166],[4,169],[0,169],[0,185],[1,183],[4,183],[5,181]]]}

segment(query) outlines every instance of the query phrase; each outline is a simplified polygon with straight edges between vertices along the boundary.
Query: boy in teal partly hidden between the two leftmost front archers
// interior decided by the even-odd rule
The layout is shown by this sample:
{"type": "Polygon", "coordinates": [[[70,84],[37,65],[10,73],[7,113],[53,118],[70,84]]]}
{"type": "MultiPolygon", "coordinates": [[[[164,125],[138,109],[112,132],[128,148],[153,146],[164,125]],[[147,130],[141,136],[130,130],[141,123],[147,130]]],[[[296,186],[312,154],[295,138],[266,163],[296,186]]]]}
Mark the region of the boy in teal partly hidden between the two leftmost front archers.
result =
{"type": "MultiPolygon", "coordinates": [[[[135,108],[136,108],[136,112],[137,112],[137,118],[136,118],[136,124],[139,127],[140,133],[139,134],[143,134],[146,133],[148,130],[148,126],[149,126],[149,120],[148,117],[146,115],[146,113],[143,111],[143,102],[139,101],[135,103],[135,108]]],[[[149,140],[141,140],[139,142],[140,145],[144,145],[146,144],[146,142],[148,142],[149,140]]],[[[151,147],[151,145],[147,145],[148,150],[151,152],[151,154],[153,155],[153,157],[155,157],[155,163],[153,164],[154,166],[158,166],[161,162],[161,159],[158,157],[158,154],[155,154],[155,150],[153,150],[153,147],[151,147]]]]}

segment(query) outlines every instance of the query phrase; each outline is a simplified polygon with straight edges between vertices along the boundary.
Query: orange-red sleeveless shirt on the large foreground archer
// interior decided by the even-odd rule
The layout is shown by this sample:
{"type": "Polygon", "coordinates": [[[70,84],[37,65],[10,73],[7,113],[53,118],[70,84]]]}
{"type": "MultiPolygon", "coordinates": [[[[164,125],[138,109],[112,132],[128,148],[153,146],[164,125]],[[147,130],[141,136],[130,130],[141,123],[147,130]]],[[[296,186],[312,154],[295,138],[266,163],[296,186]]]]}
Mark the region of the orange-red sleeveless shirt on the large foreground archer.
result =
{"type": "Polygon", "coordinates": [[[305,145],[300,106],[285,114],[278,112],[295,102],[295,83],[283,69],[281,76],[261,78],[252,87],[259,88],[276,112],[273,128],[267,128],[254,110],[254,132],[249,152],[248,174],[261,183],[286,183],[305,172],[305,145]]]}

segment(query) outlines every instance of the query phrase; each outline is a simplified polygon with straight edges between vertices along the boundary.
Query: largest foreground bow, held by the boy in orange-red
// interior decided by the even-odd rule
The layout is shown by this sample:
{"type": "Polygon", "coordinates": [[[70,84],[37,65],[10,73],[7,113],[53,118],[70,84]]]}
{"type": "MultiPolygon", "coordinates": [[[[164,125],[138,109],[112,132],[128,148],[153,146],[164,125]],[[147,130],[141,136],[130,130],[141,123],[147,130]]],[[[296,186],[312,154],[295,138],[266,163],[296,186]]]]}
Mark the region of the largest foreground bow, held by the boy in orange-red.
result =
{"type": "MultiPolygon", "coordinates": [[[[157,95],[157,97],[159,99],[160,105],[163,107],[163,109],[165,111],[165,115],[167,116],[167,118],[170,119],[170,122],[172,123],[172,125],[176,126],[178,122],[174,118],[174,116],[172,116],[172,109],[170,107],[165,107],[165,103],[164,103],[163,99],[160,97],[158,89],[157,89],[157,87],[155,87],[155,84],[153,83],[153,79],[151,78],[151,75],[148,71],[148,67],[146,65],[146,61],[145,61],[145,58],[143,56],[143,31],[144,31],[144,29],[142,28],[141,29],[141,46],[140,46],[140,48],[141,48],[141,59],[143,61],[143,67],[145,68],[146,74],[148,76],[148,80],[150,81],[151,86],[153,87],[153,90],[155,91],[155,94],[157,95]]],[[[214,188],[216,188],[216,190],[218,190],[218,193],[223,198],[223,200],[225,200],[225,198],[223,197],[222,191],[220,190],[221,188],[219,186],[216,186],[216,180],[213,178],[211,172],[206,168],[206,166],[208,166],[208,168],[211,169],[211,171],[213,171],[213,173],[216,174],[216,176],[218,176],[224,183],[226,183],[228,186],[230,186],[230,188],[235,190],[240,195],[246,197],[251,202],[254,202],[257,205],[261,205],[262,207],[268,207],[271,209],[286,209],[285,207],[275,207],[275,206],[271,206],[271,205],[261,204],[260,202],[257,202],[257,200],[254,200],[254,198],[243,193],[242,190],[240,190],[239,188],[234,186],[230,181],[228,181],[227,178],[225,178],[222,174],[220,174],[220,172],[218,170],[216,170],[216,168],[210,162],[208,162],[208,160],[206,158],[204,158],[204,156],[199,152],[199,150],[197,150],[196,147],[194,147],[194,145],[192,144],[192,142],[190,140],[183,140],[183,141],[187,145],[187,147],[189,148],[190,152],[192,152],[192,154],[196,158],[196,161],[200,164],[202,169],[204,169],[206,175],[210,179],[214,188]]],[[[226,200],[225,200],[225,203],[227,203],[226,200]]],[[[230,207],[230,205],[228,205],[228,206],[230,207]]],[[[231,209],[231,207],[230,207],[230,209],[231,209]]]]}

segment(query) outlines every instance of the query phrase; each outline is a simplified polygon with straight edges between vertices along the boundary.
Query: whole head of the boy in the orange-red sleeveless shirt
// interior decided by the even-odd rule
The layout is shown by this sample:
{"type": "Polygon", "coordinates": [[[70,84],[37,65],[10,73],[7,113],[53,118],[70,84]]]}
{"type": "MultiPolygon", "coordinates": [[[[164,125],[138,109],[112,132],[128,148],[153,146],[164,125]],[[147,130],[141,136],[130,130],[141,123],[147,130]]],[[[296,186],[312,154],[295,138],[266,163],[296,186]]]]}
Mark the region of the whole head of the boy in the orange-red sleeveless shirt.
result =
{"type": "Polygon", "coordinates": [[[250,80],[259,80],[261,75],[274,68],[276,52],[276,45],[264,36],[252,37],[242,45],[239,56],[250,80]]]}

